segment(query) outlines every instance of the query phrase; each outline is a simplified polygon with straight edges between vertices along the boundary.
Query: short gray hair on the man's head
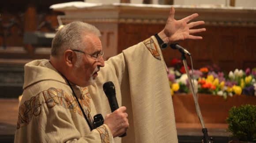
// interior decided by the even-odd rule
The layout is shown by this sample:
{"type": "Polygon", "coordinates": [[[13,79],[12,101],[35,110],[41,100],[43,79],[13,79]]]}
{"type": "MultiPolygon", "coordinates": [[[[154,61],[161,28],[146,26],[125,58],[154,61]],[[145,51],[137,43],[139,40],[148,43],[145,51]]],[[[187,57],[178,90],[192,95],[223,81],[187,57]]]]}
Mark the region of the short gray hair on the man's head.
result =
{"type": "Polygon", "coordinates": [[[86,47],[84,37],[88,34],[101,36],[100,31],[94,25],[88,23],[74,21],[64,25],[53,38],[51,57],[60,57],[68,49],[84,49],[86,47]]]}

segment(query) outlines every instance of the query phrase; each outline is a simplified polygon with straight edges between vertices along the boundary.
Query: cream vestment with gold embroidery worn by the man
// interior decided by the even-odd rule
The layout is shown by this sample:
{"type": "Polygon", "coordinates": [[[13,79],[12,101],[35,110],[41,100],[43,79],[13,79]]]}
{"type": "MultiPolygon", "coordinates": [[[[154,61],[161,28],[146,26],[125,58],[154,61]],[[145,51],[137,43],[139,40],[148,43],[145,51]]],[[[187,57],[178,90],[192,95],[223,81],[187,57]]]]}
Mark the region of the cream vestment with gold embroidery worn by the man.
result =
{"type": "Polygon", "coordinates": [[[67,81],[48,60],[25,65],[23,98],[15,142],[177,143],[166,65],[154,36],[111,57],[95,84],[72,85],[91,122],[111,113],[102,85],[112,81],[119,107],[127,107],[127,136],[115,138],[107,125],[90,131],[67,81]]]}

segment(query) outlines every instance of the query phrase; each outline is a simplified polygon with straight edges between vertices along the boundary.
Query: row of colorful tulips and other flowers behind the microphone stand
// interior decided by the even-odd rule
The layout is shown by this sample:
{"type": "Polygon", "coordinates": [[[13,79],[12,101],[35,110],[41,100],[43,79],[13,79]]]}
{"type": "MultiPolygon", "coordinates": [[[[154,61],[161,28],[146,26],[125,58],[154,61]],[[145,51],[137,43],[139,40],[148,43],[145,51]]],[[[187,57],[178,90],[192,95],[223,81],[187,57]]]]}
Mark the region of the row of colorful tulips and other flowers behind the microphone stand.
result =
{"type": "MultiPolygon", "coordinates": [[[[256,96],[256,68],[245,71],[235,69],[228,74],[220,72],[218,66],[189,70],[196,93],[208,93],[222,96],[256,96]]],[[[168,72],[171,94],[191,93],[188,76],[181,60],[174,58],[168,72]]]]}

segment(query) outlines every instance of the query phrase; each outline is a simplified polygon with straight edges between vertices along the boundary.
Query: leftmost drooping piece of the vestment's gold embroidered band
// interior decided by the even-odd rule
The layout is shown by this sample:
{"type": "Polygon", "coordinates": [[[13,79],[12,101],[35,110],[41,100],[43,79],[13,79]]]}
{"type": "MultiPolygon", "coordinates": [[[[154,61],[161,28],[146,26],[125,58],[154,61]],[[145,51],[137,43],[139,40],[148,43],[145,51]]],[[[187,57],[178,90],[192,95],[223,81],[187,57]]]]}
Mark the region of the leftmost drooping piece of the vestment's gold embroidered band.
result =
{"type": "Polygon", "coordinates": [[[39,94],[37,96],[31,97],[30,100],[27,100],[22,105],[20,105],[17,129],[28,125],[33,115],[38,116],[41,113],[39,94]]]}

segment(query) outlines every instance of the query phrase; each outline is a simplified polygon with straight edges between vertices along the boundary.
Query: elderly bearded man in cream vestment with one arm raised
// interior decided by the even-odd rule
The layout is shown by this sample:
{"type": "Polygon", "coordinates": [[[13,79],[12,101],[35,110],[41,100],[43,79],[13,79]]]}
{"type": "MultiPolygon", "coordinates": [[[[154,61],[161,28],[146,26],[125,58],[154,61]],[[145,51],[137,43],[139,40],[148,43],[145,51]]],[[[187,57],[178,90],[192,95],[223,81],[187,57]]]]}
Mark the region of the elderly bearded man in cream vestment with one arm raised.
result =
{"type": "Polygon", "coordinates": [[[191,34],[205,29],[191,28],[204,22],[188,23],[197,16],[177,21],[172,7],[161,32],[106,62],[98,29],[79,21],[65,25],[53,39],[50,60],[25,65],[15,142],[177,143],[160,47],[202,39],[191,34]],[[107,81],[116,86],[122,105],[113,113],[102,89],[107,81]],[[96,114],[105,121],[94,129],[96,114]],[[118,137],[125,132],[127,136],[118,137]]]}

